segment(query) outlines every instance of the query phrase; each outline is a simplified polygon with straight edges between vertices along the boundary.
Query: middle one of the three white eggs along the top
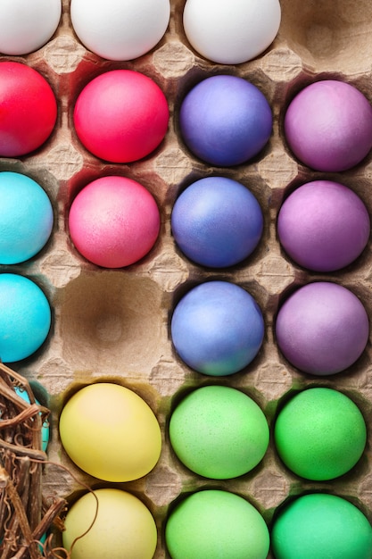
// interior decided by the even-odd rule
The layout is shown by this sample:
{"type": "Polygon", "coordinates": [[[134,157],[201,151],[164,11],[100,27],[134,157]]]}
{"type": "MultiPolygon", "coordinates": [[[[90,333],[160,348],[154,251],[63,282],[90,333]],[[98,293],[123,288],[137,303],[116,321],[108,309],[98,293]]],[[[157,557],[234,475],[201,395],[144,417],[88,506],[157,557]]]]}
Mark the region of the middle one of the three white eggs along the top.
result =
{"type": "Polygon", "coordinates": [[[108,60],[133,60],[167,30],[169,0],[71,0],[72,27],[87,49],[108,60]]]}

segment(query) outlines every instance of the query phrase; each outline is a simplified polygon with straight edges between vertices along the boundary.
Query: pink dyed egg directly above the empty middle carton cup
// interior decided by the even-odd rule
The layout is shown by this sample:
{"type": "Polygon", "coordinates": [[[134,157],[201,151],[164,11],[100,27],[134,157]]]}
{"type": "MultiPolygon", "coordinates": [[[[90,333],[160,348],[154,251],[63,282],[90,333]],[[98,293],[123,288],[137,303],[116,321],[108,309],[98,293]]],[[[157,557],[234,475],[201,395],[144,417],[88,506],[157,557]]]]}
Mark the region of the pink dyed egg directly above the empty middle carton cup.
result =
{"type": "Polygon", "coordinates": [[[153,248],[160,214],[153,196],[136,180],[102,177],[72,202],[69,228],[73,244],[89,262],[121,268],[153,248]]]}

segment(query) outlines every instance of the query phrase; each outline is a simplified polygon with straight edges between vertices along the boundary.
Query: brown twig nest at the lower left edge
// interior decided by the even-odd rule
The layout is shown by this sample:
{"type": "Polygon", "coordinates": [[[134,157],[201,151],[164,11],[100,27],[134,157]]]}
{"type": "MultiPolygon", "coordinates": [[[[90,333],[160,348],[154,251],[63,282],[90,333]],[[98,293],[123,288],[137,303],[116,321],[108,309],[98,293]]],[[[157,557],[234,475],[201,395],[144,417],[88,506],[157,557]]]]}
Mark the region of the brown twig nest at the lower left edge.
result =
{"type": "Polygon", "coordinates": [[[46,536],[52,525],[61,529],[60,513],[66,506],[60,497],[46,503],[42,493],[47,462],[42,426],[48,415],[29,382],[0,363],[0,559],[69,555],[53,548],[53,535],[46,536]],[[16,388],[27,392],[29,402],[16,388]]]}

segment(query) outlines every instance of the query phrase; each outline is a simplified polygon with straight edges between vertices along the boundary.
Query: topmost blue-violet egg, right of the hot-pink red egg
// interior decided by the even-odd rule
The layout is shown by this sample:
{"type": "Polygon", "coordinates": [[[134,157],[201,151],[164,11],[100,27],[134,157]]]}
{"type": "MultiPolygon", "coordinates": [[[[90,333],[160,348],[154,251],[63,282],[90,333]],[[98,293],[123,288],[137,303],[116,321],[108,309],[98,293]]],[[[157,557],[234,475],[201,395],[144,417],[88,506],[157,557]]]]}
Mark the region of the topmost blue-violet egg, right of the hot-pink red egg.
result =
{"type": "Polygon", "coordinates": [[[266,97],[249,81],[218,75],[203,79],[186,95],[179,112],[186,146],[206,163],[245,163],[266,146],[272,114],[266,97]]]}

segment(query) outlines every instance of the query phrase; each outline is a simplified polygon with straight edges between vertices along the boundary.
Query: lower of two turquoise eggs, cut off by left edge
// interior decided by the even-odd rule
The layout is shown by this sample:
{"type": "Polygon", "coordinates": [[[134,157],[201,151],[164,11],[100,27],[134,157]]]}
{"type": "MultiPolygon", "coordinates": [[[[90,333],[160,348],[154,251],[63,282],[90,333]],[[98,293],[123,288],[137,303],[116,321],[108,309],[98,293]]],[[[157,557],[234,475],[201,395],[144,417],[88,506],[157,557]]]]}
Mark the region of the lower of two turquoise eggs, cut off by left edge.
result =
{"type": "Polygon", "coordinates": [[[36,283],[18,274],[0,274],[0,359],[21,361],[43,345],[51,309],[36,283]]]}

